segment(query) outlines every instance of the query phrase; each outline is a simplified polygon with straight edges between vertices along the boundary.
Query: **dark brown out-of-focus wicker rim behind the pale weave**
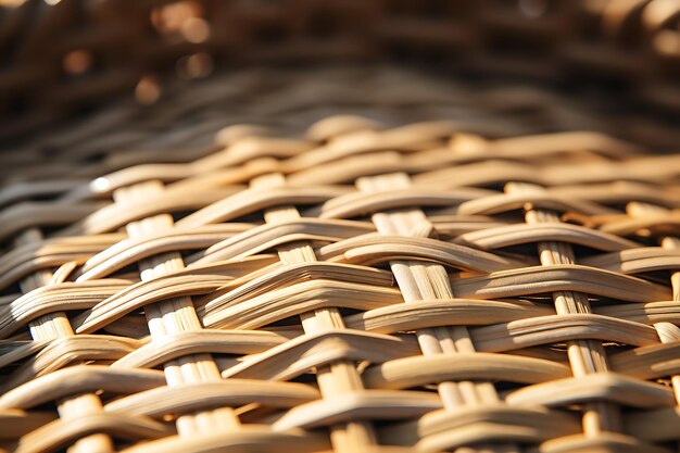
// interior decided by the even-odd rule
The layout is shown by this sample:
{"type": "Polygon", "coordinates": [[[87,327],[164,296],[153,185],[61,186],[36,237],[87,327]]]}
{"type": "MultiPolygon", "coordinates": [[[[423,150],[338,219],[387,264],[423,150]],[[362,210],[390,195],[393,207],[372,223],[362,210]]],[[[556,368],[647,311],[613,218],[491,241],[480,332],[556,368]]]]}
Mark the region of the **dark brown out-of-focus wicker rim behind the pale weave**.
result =
{"type": "Polygon", "coordinates": [[[2,0],[0,137],[133,92],[153,103],[173,74],[319,60],[595,85],[678,111],[679,23],[677,0],[2,0]]]}

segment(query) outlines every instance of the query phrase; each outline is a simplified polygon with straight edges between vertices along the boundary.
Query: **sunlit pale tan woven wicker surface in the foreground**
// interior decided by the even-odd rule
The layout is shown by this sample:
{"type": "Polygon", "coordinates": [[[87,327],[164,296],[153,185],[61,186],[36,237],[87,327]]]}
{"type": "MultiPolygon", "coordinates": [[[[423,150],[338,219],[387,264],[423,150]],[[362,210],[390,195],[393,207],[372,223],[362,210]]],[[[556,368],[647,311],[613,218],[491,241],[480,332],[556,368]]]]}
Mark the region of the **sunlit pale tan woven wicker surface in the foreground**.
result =
{"type": "Polygon", "coordinates": [[[673,451],[677,131],[253,74],[3,158],[7,450],[673,451]]]}

